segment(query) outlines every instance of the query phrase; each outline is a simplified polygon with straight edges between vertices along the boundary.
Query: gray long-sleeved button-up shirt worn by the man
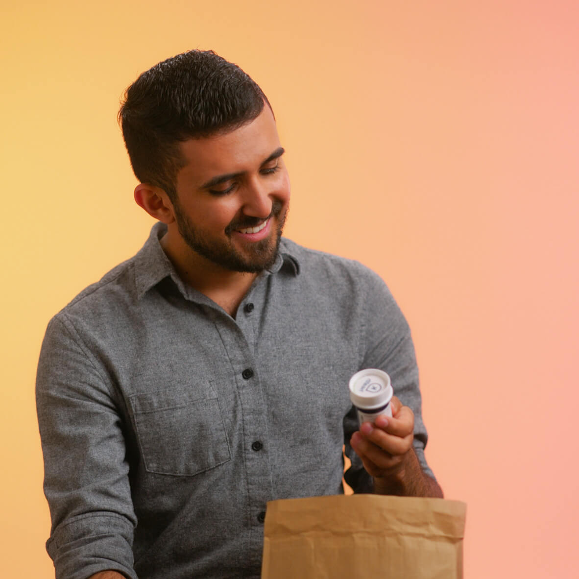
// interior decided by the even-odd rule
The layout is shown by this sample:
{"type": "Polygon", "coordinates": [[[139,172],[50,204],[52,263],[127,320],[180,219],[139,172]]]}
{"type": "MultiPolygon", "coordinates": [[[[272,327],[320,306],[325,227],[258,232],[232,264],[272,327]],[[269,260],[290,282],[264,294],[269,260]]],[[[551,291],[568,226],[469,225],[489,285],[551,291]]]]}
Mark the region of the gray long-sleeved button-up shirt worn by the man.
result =
{"type": "Polygon", "coordinates": [[[157,223],[58,313],[36,383],[56,577],[260,574],[266,501],[371,480],[350,376],[382,368],[426,430],[408,324],[367,267],[283,239],[236,319],[186,286],[157,223]]]}

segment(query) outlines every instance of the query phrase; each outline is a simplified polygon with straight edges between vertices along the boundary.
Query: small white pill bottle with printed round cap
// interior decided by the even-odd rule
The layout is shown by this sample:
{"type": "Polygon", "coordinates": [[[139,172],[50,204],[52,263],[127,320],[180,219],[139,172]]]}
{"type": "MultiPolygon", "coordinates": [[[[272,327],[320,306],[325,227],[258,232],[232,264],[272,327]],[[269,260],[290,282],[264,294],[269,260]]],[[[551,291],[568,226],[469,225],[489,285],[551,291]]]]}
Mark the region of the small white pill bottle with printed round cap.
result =
{"type": "Polygon", "coordinates": [[[368,368],[350,378],[350,400],[356,407],[360,424],[374,422],[380,415],[392,416],[392,395],[390,376],[382,370],[368,368]]]}

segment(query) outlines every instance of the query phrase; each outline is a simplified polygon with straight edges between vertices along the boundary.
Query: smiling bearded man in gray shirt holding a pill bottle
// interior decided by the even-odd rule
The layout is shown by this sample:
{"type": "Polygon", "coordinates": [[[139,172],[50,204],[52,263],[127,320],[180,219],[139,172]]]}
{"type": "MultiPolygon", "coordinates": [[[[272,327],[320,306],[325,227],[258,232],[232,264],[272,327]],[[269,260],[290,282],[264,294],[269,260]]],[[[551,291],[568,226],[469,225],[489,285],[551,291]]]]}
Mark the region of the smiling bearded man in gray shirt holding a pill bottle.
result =
{"type": "Polygon", "coordinates": [[[259,577],[266,501],[442,496],[408,325],[357,262],[281,238],[272,108],[212,52],[157,64],[120,113],[157,220],[134,258],[50,321],[37,378],[56,576],[259,577]],[[347,383],[400,398],[360,430],[347,383]],[[401,402],[402,401],[402,402],[401,402]]]}

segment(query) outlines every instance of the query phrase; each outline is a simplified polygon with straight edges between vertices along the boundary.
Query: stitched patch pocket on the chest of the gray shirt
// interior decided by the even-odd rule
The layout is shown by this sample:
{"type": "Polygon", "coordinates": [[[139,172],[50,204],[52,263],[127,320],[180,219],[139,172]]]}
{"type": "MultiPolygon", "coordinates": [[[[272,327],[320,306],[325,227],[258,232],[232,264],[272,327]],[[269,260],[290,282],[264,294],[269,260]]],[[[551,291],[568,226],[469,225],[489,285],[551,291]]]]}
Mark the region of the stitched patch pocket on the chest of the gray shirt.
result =
{"type": "Polygon", "coordinates": [[[146,471],[191,476],[231,459],[210,382],[134,394],[129,404],[146,471]]]}

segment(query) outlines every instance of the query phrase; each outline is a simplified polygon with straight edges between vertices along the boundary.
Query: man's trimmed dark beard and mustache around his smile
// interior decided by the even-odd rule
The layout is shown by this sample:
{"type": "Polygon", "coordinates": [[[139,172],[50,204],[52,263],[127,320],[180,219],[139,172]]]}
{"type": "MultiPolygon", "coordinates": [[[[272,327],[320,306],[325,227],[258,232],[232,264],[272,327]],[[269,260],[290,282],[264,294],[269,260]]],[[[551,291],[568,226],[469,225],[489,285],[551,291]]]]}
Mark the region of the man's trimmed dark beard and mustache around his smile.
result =
{"type": "Polygon", "coordinates": [[[276,262],[277,253],[280,247],[281,233],[283,232],[287,209],[281,201],[273,201],[272,212],[268,219],[277,219],[277,224],[273,224],[269,237],[254,243],[248,243],[247,249],[238,250],[232,243],[232,232],[237,229],[256,227],[263,222],[263,219],[256,217],[245,217],[234,220],[225,228],[225,239],[219,238],[210,240],[207,236],[202,236],[189,217],[182,211],[179,203],[174,204],[175,221],[181,237],[190,249],[197,254],[208,259],[232,272],[261,273],[265,269],[270,269],[276,262]],[[282,214],[283,212],[283,214],[282,214]]]}

